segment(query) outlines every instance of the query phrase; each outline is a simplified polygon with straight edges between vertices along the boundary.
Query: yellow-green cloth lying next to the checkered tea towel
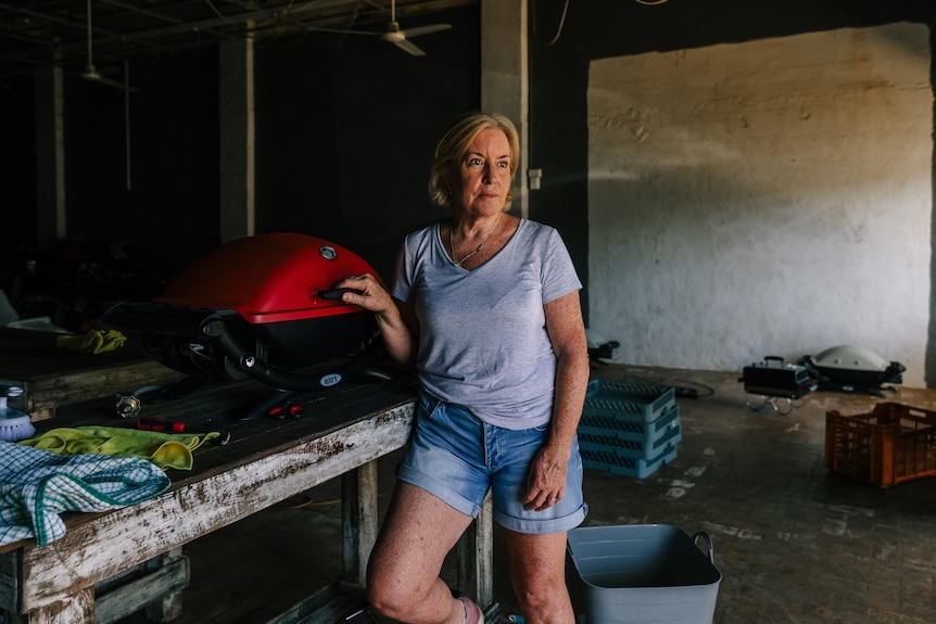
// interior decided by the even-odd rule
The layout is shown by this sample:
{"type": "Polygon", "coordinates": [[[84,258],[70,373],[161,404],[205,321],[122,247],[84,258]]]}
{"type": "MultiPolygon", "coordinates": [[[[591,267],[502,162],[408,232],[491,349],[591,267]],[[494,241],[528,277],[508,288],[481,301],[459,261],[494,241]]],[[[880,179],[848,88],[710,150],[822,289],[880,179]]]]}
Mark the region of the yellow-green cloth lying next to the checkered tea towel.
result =
{"type": "Polygon", "coordinates": [[[217,437],[211,433],[163,433],[122,426],[76,426],[47,431],[20,444],[59,455],[142,457],[162,469],[192,469],[192,450],[217,437]]]}

